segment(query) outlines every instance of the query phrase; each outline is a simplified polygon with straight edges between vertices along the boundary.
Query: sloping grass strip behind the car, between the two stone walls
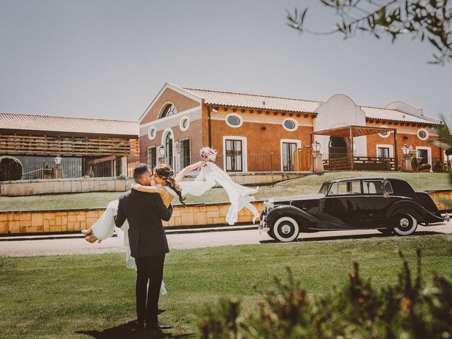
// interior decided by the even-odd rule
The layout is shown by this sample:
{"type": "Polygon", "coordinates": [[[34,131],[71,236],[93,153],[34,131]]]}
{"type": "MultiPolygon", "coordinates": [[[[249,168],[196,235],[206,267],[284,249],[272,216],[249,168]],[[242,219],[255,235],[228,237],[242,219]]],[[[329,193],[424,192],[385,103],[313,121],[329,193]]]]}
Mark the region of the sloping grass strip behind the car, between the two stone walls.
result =
{"type": "MultiPolygon", "coordinates": [[[[257,200],[271,196],[311,194],[319,191],[321,184],[328,179],[362,176],[399,177],[410,182],[414,189],[434,190],[451,187],[446,173],[401,173],[401,172],[327,172],[290,179],[272,186],[261,186],[257,200]]],[[[105,208],[109,201],[119,198],[119,192],[93,192],[80,194],[57,194],[46,196],[0,196],[0,210],[66,210],[70,208],[105,208]]],[[[218,187],[203,196],[187,196],[186,203],[215,203],[228,201],[224,189],[218,187]]],[[[178,201],[175,201],[177,203],[178,201]]]]}

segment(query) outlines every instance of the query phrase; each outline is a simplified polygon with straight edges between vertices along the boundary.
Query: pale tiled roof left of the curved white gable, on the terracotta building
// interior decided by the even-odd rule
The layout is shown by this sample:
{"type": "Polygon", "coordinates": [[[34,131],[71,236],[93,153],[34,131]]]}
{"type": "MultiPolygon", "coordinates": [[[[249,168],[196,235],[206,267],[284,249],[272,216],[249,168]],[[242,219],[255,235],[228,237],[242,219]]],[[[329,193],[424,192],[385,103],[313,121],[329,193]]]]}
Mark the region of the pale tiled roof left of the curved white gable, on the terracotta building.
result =
{"type": "Polygon", "coordinates": [[[290,97],[272,97],[249,93],[232,93],[220,90],[200,90],[184,88],[198,97],[202,97],[207,105],[244,107],[251,109],[272,109],[286,112],[316,113],[319,102],[313,100],[294,99],[290,97]]]}

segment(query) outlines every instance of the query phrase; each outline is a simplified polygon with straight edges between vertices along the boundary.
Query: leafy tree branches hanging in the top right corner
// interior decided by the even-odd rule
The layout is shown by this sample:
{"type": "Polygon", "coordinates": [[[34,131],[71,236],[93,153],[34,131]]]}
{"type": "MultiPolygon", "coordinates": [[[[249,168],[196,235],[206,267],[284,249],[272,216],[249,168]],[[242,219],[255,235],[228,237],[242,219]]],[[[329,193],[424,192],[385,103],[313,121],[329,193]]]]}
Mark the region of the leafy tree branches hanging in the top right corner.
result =
{"type": "Polygon", "coordinates": [[[308,8],[287,11],[287,24],[299,32],[316,35],[341,33],[345,39],[358,31],[377,39],[389,35],[394,42],[400,35],[427,40],[434,49],[429,64],[444,65],[452,60],[452,3],[449,0],[319,0],[335,9],[340,20],[328,32],[315,32],[304,25],[308,8]]]}

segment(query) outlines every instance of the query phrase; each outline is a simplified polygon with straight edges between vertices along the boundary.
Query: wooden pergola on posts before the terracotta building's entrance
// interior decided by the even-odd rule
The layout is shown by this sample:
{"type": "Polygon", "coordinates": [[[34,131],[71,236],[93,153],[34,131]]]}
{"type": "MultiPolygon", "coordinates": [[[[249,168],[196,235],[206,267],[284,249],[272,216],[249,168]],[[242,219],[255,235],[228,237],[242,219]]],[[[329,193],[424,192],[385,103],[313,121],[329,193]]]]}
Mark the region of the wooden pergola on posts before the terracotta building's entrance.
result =
{"type": "Polygon", "coordinates": [[[396,169],[398,168],[398,154],[397,154],[397,129],[390,129],[388,127],[372,127],[372,126],[356,126],[349,125],[343,127],[337,127],[335,129],[325,129],[323,131],[311,132],[311,144],[314,143],[314,136],[341,136],[343,138],[350,138],[350,151],[352,156],[350,157],[350,165],[353,170],[355,167],[354,152],[353,152],[353,138],[358,136],[369,136],[376,133],[393,132],[394,140],[394,157],[396,161],[396,169]]]}

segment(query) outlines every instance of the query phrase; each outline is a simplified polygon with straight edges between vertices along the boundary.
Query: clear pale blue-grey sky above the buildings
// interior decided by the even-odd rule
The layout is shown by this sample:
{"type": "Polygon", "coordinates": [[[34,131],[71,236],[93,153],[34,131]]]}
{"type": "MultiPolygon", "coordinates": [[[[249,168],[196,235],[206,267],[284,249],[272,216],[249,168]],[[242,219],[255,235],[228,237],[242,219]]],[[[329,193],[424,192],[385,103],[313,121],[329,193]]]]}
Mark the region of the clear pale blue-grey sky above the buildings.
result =
{"type": "Polygon", "coordinates": [[[451,119],[452,64],[427,64],[429,44],[299,35],[285,19],[296,6],[309,7],[310,28],[334,27],[318,0],[0,0],[0,111],[138,119],[170,82],[322,101],[343,93],[376,107],[405,101],[451,119]]]}

